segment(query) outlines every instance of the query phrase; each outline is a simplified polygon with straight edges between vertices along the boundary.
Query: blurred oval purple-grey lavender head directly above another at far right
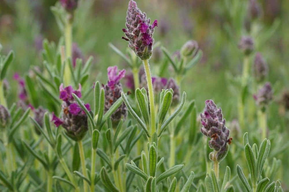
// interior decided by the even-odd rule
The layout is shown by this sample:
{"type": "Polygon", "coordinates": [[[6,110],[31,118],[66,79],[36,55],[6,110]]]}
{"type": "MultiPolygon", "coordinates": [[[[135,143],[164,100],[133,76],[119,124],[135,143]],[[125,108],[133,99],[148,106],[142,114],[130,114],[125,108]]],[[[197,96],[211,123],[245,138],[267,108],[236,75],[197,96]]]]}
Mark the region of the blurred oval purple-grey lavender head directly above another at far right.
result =
{"type": "Polygon", "coordinates": [[[257,53],[254,60],[254,75],[257,81],[263,81],[268,75],[268,66],[260,53],[257,53]]]}

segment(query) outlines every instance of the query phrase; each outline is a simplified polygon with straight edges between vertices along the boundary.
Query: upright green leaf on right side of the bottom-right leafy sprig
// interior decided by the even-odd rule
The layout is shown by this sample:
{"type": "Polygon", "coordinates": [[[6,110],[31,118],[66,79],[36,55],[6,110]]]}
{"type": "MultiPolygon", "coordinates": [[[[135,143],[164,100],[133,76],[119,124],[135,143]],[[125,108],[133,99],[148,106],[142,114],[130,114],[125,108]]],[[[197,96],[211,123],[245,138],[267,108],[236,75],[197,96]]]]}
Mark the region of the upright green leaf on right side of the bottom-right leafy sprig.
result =
{"type": "Polygon", "coordinates": [[[269,151],[270,151],[270,140],[264,139],[263,142],[260,145],[260,149],[258,152],[257,157],[257,176],[258,178],[262,174],[263,166],[266,161],[266,158],[268,157],[269,151]]]}

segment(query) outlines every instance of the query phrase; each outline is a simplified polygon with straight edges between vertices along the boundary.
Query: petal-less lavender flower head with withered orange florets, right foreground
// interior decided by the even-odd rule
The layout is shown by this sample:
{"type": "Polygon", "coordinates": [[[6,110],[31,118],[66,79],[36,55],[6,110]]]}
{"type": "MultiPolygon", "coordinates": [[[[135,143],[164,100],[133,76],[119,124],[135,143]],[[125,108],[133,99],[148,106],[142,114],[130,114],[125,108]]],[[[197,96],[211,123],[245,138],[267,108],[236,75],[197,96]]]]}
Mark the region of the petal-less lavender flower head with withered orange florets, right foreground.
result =
{"type": "Polygon", "coordinates": [[[204,113],[201,113],[201,132],[210,138],[209,147],[215,150],[215,153],[210,153],[210,159],[221,161],[228,152],[227,143],[230,144],[232,138],[228,139],[230,131],[225,126],[222,109],[217,109],[213,100],[206,100],[205,105],[204,113]]]}

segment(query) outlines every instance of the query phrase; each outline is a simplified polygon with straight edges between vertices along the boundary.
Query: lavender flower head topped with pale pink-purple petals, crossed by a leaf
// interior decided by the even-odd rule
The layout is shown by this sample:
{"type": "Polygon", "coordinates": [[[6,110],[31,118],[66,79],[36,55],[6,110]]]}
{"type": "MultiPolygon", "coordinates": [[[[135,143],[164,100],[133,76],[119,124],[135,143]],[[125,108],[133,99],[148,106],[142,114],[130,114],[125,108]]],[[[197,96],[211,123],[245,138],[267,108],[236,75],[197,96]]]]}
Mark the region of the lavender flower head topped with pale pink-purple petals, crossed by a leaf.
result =
{"type": "MultiPolygon", "coordinates": [[[[123,77],[125,77],[125,69],[118,71],[117,66],[108,67],[108,83],[103,85],[105,93],[105,104],[104,113],[110,109],[112,104],[121,97],[121,92],[123,91],[122,85],[119,82],[123,77]]],[[[126,118],[127,107],[123,102],[121,106],[116,109],[116,111],[111,115],[111,119],[114,122],[119,121],[121,118],[126,118]]]]}

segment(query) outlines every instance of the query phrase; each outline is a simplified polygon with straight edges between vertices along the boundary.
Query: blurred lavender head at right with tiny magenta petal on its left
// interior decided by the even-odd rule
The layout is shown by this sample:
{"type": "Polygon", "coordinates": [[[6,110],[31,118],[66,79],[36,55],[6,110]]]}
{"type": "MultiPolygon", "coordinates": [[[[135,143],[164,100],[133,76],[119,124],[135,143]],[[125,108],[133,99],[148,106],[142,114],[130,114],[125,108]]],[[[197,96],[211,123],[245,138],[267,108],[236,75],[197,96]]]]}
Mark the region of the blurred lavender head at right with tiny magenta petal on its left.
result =
{"type": "Polygon", "coordinates": [[[253,95],[253,97],[256,100],[257,105],[265,110],[266,106],[273,99],[271,83],[265,83],[264,87],[258,91],[257,95],[253,95]]]}

